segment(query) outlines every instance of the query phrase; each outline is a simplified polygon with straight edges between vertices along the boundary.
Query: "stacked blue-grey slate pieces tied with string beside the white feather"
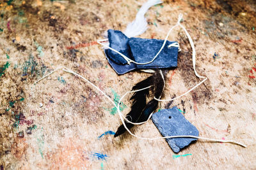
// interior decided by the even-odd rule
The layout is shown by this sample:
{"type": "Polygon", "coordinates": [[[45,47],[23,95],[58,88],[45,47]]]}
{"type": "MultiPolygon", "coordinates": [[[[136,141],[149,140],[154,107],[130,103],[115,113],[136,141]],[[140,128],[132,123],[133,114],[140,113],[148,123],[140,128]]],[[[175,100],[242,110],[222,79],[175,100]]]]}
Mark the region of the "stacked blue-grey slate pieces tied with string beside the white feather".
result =
{"type": "MultiPolygon", "coordinates": [[[[109,46],[135,62],[145,63],[151,61],[159,52],[164,40],[127,38],[121,31],[108,30],[109,46]]],[[[156,59],[149,64],[127,64],[127,61],[113,50],[105,50],[109,64],[117,74],[125,74],[134,69],[160,69],[177,67],[178,47],[168,45],[176,41],[166,41],[163,50],[156,59]]]]}

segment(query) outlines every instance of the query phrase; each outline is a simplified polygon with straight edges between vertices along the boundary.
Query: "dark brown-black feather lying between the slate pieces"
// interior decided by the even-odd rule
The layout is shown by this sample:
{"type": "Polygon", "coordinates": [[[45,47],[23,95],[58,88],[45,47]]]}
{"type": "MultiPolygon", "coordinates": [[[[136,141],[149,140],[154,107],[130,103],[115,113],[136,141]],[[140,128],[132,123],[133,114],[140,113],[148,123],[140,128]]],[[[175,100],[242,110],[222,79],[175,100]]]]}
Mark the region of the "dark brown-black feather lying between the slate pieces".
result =
{"type": "MultiPolygon", "coordinates": [[[[152,91],[152,94],[154,94],[156,98],[159,98],[163,93],[164,89],[164,81],[159,70],[157,70],[156,73],[154,73],[152,76],[149,76],[145,80],[140,81],[139,83],[134,85],[134,87],[132,87],[132,90],[143,89],[150,85],[150,90],[152,91]]],[[[134,92],[131,97],[131,100],[133,100],[131,111],[126,115],[127,120],[134,123],[145,122],[150,114],[157,109],[158,101],[156,101],[155,99],[152,99],[151,101],[146,103],[148,94],[149,89],[134,92]]],[[[125,125],[128,129],[131,129],[131,127],[134,126],[133,124],[128,122],[125,122],[125,125]]],[[[115,137],[123,134],[125,131],[126,129],[124,125],[120,125],[115,133],[115,137]]]]}

